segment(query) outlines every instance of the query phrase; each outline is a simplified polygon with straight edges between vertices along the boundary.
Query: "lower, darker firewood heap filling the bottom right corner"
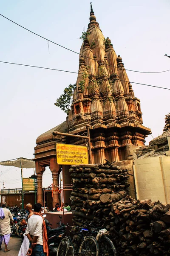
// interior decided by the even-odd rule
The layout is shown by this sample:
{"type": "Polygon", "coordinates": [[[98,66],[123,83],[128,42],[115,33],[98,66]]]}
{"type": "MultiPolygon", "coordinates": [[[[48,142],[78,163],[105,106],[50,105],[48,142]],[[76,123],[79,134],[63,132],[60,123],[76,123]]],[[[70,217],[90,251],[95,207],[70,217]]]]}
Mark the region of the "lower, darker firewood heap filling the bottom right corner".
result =
{"type": "Polygon", "coordinates": [[[139,201],[127,195],[109,205],[111,212],[102,221],[118,255],[170,255],[169,204],[139,201]]]}

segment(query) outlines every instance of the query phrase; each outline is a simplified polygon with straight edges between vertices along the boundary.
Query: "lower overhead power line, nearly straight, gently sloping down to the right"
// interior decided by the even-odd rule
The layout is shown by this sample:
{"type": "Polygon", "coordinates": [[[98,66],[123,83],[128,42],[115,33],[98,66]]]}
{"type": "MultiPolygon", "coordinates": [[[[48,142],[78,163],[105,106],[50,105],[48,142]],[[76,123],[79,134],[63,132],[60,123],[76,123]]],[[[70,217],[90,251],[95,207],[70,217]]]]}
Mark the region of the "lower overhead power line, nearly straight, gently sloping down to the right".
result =
{"type": "MultiPolygon", "coordinates": [[[[14,65],[25,66],[25,67],[36,67],[36,68],[42,68],[42,69],[46,69],[46,70],[55,70],[55,71],[60,71],[60,72],[67,72],[67,73],[74,73],[74,74],[83,75],[83,73],[78,73],[78,72],[73,72],[73,71],[68,71],[68,70],[58,70],[58,69],[55,69],[55,68],[39,67],[39,66],[32,66],[32,65],[19,64],[19,63],[13,63],[13,62],[6,62],[6,61],[0,61],[0,63],[14,64],[14,65]]],[[[126,80],[121,80],[121,79],[120,79],[120,81],[130,82],[132,84],[142,84],[142,83],[126,81],[126,80]]],[[[170,90],[170,88],[160,87],[160,86],[155,86],[155,85],[150,85],[150,84],[142,84],[142,85],[146,85],[146,86],[150,86],[150,87],[156,87],[156,88],[161,88],[161,89],[165,89],[165,90],[170,90]]]]}

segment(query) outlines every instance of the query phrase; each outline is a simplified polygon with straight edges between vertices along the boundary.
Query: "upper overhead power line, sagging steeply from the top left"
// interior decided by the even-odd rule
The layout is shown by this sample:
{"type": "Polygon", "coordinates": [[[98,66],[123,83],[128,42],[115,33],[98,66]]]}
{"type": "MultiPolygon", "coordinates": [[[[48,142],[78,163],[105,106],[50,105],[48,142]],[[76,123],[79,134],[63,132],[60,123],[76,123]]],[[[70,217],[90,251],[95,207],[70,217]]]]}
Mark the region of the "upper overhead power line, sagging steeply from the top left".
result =
{"type": "MultiPolygon", "coordinates": [[[[43,37],[43,36],[41,36],[41,35],[38,35],[37,33],[35,33],[35,32],[33,32],[33,31],[31,31],[31,30],[25,28],[24,26],[21,26],[20,24],[14,22],[13,20],[10,20],[9,18],[5,17],[5,16],[2,15],[2,14],[0,14],[0,16],[2,16],[2,17],[4,17],[5,19],[11,21],[12,23],[16,24],[17,26],[20,26],[21,28],[26,29],[28,32],[31,32],[32,34],[37,35],[37,36],[39,36],[40,38],[45,39],[45,40],[48,41],[48,42],[51,42],[52,44],[56,44],[56,45],[58,45],[59,47],[62,47],[62,48],[64,48],[64,49],[68,50],[68,51],[74,52],[74,53],[76,53],[76,54],[78,54],[78,55],[81,55],[81,56],[83,56],[83,57],[85,57],[85,58],[89,58],[89,59],[91,59],[91,60],[94,60],[93,58],[90,58],[90,57],[88,57],[88,56],[82,55],[82,54],[80,54],[79,52],[75,52],[75,51],[73,51],[73,50],[71,50],[71,49],[69,49],[69,48],[67,48],[67,47],[62,46],[61,44],[57,44],[57,43],[55,43],[54,41],[49,40],[48,38],[45,38],[45,37],[43,37]]],[[[105,63],[105,65],[107,65],[107,66],[109,66],[109,67],[116,67],[116,66],[109,65],[109,64],[106,64],[106,63],[105,63]]],[[[129,69],[125,69],[125,70],[132,71],[132,72],[137,72],[137,73],[152,73],[152,74],[153,74],[153,73],[164,73],[164,72],[170,71],[170,70],[164,70],[164,71],[158,71],[158,72],[145,72],[145,71],[137,71],[137,70],[129,70],[129,69]]]]}

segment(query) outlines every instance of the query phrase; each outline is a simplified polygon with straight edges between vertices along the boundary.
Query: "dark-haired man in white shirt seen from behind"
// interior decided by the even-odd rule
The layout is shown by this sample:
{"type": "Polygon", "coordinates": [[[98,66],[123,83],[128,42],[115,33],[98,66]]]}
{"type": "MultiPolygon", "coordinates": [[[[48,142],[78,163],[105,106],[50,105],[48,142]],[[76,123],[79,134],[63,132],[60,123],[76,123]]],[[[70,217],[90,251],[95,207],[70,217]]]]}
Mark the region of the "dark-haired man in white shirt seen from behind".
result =
{"type": "Polygon", "coordinates": [[[30,241],[30,248],[28,249],[27,255],[29,256],[45,256],[43,251],[43,233],[42,225],[43,218],[40,214],[42,205],[37,203],[34,205],[34,213],[28,219],[28,225],[26,227],[26,236],[30,241]]]}

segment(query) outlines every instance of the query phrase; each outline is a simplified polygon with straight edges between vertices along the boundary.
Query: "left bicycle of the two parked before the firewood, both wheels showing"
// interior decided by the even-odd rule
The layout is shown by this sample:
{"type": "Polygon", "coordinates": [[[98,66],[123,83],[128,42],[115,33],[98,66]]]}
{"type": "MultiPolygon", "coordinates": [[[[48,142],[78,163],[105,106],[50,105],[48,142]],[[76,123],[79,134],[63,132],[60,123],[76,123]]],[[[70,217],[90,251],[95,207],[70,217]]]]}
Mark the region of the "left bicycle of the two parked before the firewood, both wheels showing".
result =
{"type": "Polygon", "coordinates": [[[85,228],[79,228],[79,233],[74,233],[72,230],[75,228],[71,227],[71,231],[68,236],[65,236],[59,243],[57,250],[57,256],[98,256],[99,255],[99,245],[94,236],[88,235],[89,230],[85,228]],[[71,234],[75,234],[77,241],[71,239],[71,234]],[[76,243],[75,243],[76,241],[76,243]]]}

